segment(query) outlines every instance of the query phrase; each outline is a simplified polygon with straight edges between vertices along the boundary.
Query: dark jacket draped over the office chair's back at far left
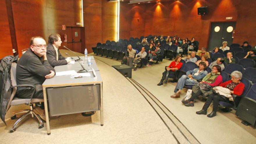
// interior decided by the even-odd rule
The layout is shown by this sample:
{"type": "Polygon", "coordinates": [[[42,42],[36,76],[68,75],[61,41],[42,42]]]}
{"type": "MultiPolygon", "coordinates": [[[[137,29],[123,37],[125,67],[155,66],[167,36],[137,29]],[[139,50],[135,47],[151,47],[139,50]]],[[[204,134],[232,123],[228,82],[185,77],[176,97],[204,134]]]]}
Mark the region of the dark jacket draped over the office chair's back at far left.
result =
{"type": "MultiPolygon", "coordinates": [[[[10,69],[13,62],[17,62],[18,56],[6,56],[1,59],[0,63],[0,91],[1,91],[1,99],[0,99],[0,116],[3,122],[5,123],[5,113],[6,106],[10,100],[10,96],[12,93],[11,88],[11,77],[10,77],[10,69]]],[[[5,123],[6,124],[6,123],[5,123]]]]}

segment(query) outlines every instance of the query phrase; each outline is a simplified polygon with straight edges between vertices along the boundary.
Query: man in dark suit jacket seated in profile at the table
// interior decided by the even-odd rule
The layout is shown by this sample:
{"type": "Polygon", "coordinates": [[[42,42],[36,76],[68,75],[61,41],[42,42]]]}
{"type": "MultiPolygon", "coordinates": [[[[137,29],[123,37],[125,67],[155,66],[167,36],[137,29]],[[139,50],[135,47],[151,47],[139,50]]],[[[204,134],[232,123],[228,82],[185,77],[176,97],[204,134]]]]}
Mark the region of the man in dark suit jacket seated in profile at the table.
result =
{"type": "Polygon", "coordinates": [[[59,34],[51,34],[48,38],[47,58],[51,66],[66,65],[71,58],[65,58],[61,55],[59,47],[61,46],[61,36],[59,34]]]}

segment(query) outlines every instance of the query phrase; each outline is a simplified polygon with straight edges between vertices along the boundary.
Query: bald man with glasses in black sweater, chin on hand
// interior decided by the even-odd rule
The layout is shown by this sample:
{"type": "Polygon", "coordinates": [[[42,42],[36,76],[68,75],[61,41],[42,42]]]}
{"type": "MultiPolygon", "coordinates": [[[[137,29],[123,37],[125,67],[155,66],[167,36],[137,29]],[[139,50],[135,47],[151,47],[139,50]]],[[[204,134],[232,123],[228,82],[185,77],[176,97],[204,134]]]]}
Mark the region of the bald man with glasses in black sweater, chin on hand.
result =
{"type": "MultiPolygon", "coordinates": [[[[33,98],[43,98],[42,83],[45,79],[54,77],[55,70],[49,64],[46,56],[46,42],[42,37],[32,37],[29,49],[20,57],[16,68],[17,84],[32,84],[35,86],[33,98]]],[[[18,87],[16,96],[19,98],[31,98],[32,88],[18,87]]],[[[44,119],[44,110],[36,107],[38,114],[44,119]]]]}

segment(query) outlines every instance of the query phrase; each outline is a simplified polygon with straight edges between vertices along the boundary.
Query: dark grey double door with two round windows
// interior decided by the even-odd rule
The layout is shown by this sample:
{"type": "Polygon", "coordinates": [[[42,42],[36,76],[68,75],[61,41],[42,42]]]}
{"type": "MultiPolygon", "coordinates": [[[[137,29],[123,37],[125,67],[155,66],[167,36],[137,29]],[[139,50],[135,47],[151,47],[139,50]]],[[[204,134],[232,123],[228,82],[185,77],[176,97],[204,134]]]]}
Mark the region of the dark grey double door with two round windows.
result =
{"type": "Polygon", "coordinates": [[[211,23],[208,50],[212,51],[214,47],[221,47],[223,41],[227,41],[227,44],[231,45],[233,42],[232,35],[235,30],[235,26],[235,22],[211,23]]]}

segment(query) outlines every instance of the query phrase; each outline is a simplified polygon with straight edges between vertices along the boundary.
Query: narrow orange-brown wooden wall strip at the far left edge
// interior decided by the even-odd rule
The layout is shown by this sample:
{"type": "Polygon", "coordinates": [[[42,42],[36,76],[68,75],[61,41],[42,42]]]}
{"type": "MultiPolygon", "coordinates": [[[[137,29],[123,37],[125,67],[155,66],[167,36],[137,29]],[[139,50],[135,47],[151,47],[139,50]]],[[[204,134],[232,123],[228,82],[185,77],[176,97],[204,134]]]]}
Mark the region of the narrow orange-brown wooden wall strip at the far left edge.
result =
{"type": "Polygon", "coordinates": [[[13,48],[10,36],[10,27],[8,22],[8,15],[6,9],[6,1],[0,1],[0,59],[13,55],[13,48]]]}

